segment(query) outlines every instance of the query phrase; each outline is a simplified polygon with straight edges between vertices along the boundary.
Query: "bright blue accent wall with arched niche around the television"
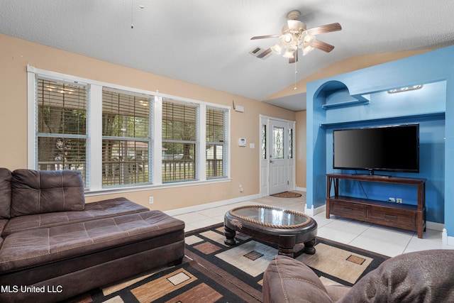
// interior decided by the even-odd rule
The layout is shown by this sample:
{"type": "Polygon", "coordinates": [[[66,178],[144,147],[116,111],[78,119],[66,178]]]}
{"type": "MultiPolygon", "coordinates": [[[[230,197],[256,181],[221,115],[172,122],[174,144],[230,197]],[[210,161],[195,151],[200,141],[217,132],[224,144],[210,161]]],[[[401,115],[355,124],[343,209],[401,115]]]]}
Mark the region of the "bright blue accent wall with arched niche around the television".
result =
{"type": "MultiPolygon", "coordinates": [[[[326,173],[333,170],[333,130],[419,123],[420,172],[383,172],[426,179],[428,221],[454,236],[454,46],[307,84],[307,207],[326,202],[326,173]],[[423,84],[389,94],[389,89],[423,84]]],[[[366,171],[358,171],[366,173],[366,171]]],[[[341,180],[341,194],[416,204],[410,185],[341,180]]]]}

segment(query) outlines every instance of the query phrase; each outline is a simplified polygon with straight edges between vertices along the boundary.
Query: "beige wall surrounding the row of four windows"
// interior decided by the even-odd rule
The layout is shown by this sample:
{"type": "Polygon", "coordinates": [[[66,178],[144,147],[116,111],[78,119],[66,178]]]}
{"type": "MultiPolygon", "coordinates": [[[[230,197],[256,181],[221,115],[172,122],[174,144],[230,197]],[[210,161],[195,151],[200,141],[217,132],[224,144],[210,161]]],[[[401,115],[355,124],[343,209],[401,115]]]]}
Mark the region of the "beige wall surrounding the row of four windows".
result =
{"type": "MultiPolygon", "coordinates": [[[[0,35],[0,45],[0,167],[7,167],[10,170],[28,167],[27,65],[153,92],[159,89],[163,94],[216,104],[231,106],[234,100],[235,104],[244,106],[244,113],[232,111],[231,115],[231,182],[101,195],[87,197],[87,202],[122,196],[149,206],[148,197],[153,196],[155,201],[153,208],[169,210],[258,194],[259,115],[295,120],[293,111],[260,101],[68,53],[7,35],[0,35]],[[248,146],[249,143],[255,143],[255,148],[239,148],[238,138],[247,138],[248,146]],[[242,193],[238,190],[239,184],[243,184],[242,193]]],[[[219,81],[223,81],[221,76],[219,77],[219,81]]]]}

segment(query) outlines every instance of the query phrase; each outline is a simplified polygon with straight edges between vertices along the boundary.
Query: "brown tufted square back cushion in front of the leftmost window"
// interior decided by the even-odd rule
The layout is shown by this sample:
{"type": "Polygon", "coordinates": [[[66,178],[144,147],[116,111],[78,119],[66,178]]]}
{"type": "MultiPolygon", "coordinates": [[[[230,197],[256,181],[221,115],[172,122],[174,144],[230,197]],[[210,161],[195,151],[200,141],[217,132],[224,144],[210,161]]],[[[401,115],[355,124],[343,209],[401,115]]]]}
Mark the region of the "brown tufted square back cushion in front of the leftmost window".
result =
{"type": "Polygon", "coordinates": [[[84,182],[76,170],[14,170],[11,218],[84,209],[84,182]]]}

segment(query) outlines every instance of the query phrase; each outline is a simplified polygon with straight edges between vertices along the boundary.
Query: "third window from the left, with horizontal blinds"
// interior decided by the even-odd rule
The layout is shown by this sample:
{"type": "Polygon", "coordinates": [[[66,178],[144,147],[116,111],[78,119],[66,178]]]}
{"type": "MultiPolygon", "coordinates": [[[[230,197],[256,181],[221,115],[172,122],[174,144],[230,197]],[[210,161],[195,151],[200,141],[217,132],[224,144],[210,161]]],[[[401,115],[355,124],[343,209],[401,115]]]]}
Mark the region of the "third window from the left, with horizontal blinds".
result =
{"type": "Polygon", "coordinates": [[[162,101],[162,182],[196,179],[197,107],[162,101]]]}

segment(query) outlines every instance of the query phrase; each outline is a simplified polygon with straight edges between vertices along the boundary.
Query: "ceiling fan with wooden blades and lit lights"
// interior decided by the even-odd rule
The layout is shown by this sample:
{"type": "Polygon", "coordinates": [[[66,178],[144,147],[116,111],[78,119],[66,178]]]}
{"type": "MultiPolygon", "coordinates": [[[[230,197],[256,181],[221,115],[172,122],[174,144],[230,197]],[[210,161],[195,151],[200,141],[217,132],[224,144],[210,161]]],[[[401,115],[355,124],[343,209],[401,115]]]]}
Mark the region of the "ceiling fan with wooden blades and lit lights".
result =
{"type": "Polygon", "coordinates": [[[341,31],[342,27],[339,23],[326,24],[324,26],[317,26],[316,28],[306,28],[306,23],[299,21],[301,13],[299,11],[290,11],[287,14],[287,24],[282,26],[282,33],[278,35],[258,35],[250,40],[265,39],[265,38],[279,38],[279,42],[271,48],[265,50],[261,57],[273,52],[280,54],[284,50],[284,57],[289,58],[289,63],[298,61],[298,49],[301,49],[303,55],[310,53],[314,48],[323,50],[329,53],[333,50],[334,46],[316,40],[315,35],[321,33],[331,33],[333,31],[341,31]]]}

